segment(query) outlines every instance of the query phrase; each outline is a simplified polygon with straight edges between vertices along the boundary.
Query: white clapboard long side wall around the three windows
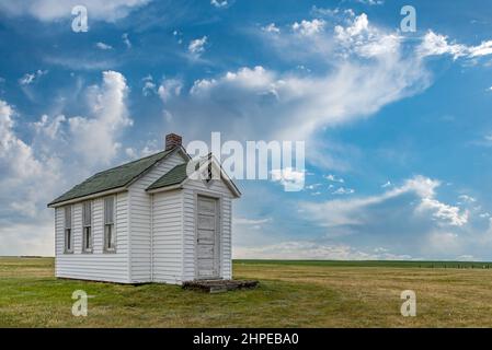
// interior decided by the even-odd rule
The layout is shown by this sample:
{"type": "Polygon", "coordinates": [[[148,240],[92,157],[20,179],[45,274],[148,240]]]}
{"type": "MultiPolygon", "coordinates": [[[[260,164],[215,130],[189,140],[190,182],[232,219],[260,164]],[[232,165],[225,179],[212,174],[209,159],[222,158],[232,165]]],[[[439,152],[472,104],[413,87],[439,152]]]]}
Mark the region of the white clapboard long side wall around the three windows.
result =
{"type": "Polygon", "coordinates": [[[72,206],[73,254],[65,254],[64,207],[56,209],[56,277],[130,282],[128,277],[128,194],[116,195],[116,252],[104,252],[103,198],[92,200],[93,253],[82,253],[82,203],[72,206]]]}

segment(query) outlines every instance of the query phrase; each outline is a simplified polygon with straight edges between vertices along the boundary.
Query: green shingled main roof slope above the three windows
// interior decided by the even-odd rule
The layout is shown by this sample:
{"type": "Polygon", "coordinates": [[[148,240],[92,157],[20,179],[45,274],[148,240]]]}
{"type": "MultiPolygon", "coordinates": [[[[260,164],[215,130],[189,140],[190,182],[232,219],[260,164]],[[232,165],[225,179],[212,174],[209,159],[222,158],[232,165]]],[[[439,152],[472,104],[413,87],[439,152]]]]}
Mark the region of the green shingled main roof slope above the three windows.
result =
{"type": "Polygon", "coordinates": [[[168,156],[173,150],[162,151],[98,173],[55,199],[48,206],[126,186],[141,173],[150,168],[153,164],[168,156]]]}

